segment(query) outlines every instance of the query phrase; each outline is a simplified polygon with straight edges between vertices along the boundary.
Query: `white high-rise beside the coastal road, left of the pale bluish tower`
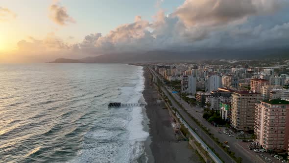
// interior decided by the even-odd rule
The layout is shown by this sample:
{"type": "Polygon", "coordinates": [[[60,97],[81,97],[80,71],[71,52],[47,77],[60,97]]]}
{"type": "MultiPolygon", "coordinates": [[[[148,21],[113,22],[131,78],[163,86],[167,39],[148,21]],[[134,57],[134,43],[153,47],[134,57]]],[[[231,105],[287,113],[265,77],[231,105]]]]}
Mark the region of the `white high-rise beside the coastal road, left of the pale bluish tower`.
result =
{"type": "Polygon", "coordinates": [[[181,93],[195,94],[196,91],[196,77],[182,76],[181,77],[181,93]]]}

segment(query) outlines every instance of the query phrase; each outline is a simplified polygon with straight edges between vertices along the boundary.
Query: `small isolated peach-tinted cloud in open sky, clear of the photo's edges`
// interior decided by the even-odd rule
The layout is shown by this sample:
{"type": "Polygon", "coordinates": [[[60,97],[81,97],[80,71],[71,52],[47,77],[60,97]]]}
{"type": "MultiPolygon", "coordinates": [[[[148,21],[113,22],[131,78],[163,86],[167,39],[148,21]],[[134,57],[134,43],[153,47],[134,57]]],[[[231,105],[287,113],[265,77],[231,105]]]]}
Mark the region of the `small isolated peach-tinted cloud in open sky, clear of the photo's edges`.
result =
{"type": "Polygon", "coordinates": [[[49,12],[50,19],[58,25],[64,26],[69,23],[76,23],[75,20],[67,14],[67,9],[57,3],[50,5],[49,12]]]}

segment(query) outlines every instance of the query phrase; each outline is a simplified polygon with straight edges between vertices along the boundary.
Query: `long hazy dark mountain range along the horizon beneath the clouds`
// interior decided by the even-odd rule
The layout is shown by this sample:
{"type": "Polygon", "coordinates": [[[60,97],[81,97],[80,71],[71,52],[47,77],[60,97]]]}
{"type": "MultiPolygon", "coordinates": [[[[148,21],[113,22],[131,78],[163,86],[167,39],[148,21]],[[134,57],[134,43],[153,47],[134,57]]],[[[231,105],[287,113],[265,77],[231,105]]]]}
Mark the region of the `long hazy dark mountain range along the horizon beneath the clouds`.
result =
{"type": "Polygon", "coordinates": [[[223,50],[209,49],[194,52],[151,51],[145,53],[119,53],[90,56],[82,59],[56,59],[53,63],[136,63],[156,61],[192,61],[205,59],[265,59],[274,56],[289,56],[289,50],[223,50]]]}

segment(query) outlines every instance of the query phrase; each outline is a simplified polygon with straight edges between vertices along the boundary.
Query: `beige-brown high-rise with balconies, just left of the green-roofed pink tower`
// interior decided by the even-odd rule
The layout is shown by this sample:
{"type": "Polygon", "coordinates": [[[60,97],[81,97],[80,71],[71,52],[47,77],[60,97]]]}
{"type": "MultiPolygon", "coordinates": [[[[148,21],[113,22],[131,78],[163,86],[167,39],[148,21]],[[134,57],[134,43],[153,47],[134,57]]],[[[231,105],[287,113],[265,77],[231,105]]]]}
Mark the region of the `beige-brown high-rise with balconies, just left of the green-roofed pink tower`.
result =
{"type": "Polygon", "coordinates": [[[255,103],[262,100],[260,93],[236,91],[231,99],[231,126],[237,130],[253,130],[255,103]]]}

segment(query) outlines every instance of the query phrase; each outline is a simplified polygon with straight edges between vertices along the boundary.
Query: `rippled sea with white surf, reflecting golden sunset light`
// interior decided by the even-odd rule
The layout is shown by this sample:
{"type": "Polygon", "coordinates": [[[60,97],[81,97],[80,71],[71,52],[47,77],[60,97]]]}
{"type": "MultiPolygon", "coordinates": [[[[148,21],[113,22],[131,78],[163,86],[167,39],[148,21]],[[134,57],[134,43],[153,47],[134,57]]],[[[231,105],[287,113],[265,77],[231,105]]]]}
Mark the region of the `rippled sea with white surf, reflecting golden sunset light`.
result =
{"type": "Polygon", "coordinates": [[[146,163],[143,68],[0,64],[0,163],[146,163]]]}

